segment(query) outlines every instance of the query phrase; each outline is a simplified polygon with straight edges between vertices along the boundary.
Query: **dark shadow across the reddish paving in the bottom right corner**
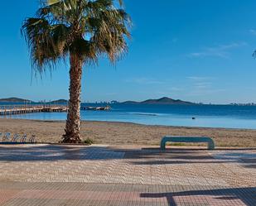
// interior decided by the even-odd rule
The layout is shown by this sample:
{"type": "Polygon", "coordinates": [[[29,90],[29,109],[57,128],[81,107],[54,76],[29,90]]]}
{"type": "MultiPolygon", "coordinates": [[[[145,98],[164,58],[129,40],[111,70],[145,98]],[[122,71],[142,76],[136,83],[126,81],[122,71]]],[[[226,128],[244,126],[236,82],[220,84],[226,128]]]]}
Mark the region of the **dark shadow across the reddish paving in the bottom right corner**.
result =
{"type": "MultiPolygon", "coordinates": [[[[188,204],[193,196],[201,196],[200,201],[205,199],[207,204],[207,198],[212,196],[216,200],[224,200],[225,203],[229,202],[230,205],[234,205],[234,200],[240,200],[247,206],[255,206],[256,203],[256,187],[253,188],[232,188],[232,189],[205,189],[205,190],[188,190],[182,192],[173,193],[142,193],[141,198],[157,199],[166,198],[167,203],[170,206],[176,206],[176,198],[187,199],[188,204]]],[[[214,201],[214,200],[213,200],[214,201]]],[[[216,201],[220,203],[220,201],[216,201]]]]}

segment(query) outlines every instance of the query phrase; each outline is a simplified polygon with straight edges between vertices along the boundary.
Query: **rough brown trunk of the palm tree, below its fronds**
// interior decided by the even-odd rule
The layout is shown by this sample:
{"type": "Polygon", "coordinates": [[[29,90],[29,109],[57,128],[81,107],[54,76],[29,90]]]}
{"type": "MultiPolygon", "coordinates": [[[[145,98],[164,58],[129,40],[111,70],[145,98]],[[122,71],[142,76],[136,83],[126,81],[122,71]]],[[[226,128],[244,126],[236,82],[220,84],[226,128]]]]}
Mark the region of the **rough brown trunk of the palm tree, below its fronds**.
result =
{"type": "Polygon", "coordinates": [[[70,102],[62,142],[80,143],[80,93],[83,61],[70,54],[70,102]]]}

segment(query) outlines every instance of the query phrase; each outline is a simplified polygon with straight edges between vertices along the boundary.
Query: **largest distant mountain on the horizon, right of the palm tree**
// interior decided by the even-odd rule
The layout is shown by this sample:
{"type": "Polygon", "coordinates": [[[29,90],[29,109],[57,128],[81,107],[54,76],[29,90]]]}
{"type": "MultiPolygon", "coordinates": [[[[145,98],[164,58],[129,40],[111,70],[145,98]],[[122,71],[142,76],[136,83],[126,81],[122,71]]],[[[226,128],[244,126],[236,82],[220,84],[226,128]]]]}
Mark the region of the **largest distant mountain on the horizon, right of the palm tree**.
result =
{"type": "Polygon", "coordinates": [[[126,101],[124,103],[141,103],[141,104],[196,104],[191,102],[182,101],[180,99],[173,99],[173,98],[158,98],[158,99],[147,99],[142,102],[134,102],[134,101],[126,101]]]}

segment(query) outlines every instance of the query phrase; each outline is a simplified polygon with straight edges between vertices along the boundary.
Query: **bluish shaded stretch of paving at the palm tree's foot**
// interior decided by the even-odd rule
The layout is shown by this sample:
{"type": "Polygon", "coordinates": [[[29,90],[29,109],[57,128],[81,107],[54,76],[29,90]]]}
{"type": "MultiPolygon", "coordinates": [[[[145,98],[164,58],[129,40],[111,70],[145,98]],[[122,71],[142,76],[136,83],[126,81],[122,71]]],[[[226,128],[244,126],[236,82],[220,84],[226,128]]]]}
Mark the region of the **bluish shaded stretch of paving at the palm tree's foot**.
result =
{"type": "Polygon", "coordinates": [[[0,146],[0,161],[112,160],[123,153],[104,146],[0,146]]]}

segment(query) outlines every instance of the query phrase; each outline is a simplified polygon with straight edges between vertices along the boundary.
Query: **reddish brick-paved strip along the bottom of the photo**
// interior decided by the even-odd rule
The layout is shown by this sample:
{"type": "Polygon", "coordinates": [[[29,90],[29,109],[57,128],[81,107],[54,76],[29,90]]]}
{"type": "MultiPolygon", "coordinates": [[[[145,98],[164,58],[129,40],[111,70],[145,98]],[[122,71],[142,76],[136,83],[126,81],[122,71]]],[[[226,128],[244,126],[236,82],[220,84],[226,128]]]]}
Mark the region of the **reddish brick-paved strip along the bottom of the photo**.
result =
{"type": "Polygon", "coordinates": [[[1,183],[1,205],[255,205],[255,188],[1,183]]]}

